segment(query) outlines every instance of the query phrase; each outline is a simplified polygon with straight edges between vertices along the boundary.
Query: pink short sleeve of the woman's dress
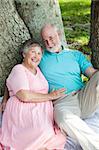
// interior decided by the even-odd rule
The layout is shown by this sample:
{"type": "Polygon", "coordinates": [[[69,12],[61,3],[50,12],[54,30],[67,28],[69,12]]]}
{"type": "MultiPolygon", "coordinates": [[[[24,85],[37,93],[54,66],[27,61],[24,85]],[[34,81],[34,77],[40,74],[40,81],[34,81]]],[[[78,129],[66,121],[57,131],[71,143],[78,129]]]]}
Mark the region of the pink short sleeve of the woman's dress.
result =
{"type": "Polygon", "coordinates": [[[7,87],[16,94],[19,90],[29,90],[29,82],[24,67],[16,65],[7,78],[7,87]]]}

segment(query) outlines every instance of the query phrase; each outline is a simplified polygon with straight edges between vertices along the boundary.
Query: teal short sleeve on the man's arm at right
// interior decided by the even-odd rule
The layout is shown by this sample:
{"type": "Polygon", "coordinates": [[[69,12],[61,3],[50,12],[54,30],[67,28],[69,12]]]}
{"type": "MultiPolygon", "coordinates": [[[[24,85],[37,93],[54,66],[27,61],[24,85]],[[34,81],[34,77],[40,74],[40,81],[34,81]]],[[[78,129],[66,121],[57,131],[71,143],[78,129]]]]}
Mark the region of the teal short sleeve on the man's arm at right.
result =
{"type": "Polygon", "coordinates": [[[92,66],[91,62],[83,53],[79,51],[75,51],[74,55],[76,56],[76,60],[80,66],[81,72],[84,74],[86,69],[92,66]]]}

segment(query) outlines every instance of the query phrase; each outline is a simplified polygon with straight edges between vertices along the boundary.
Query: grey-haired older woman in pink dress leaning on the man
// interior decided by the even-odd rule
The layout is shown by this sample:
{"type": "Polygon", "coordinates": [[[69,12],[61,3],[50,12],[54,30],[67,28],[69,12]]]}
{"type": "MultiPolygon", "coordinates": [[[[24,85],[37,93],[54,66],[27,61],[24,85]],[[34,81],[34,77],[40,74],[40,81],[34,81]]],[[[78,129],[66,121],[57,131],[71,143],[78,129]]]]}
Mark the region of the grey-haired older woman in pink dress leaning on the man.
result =
{"type": "Polygon", "coordinates": [[[3,114],[0,142],[13,150],[64,149],[66,137],[54,125],[52,100],[65,89],[48,94],[48,83],[38,64],[42,49],[31,40],[21,48],[22,64],[16,65],[6,85],[10,98],[3,114]]]}

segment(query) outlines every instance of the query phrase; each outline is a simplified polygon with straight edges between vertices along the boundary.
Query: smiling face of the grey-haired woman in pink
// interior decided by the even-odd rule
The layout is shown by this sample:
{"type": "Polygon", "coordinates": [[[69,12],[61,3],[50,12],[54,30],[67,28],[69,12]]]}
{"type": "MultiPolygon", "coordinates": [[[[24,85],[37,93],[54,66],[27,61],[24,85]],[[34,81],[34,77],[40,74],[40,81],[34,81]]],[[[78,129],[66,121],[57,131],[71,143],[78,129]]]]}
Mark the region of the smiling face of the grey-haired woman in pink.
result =
{"type": "Polygon", "coordinates": [[[42,49],[39,46],[33,46],[27,53],[23,54],[24,61],[29,67],[37,67],[42,58],[42,49]]]}

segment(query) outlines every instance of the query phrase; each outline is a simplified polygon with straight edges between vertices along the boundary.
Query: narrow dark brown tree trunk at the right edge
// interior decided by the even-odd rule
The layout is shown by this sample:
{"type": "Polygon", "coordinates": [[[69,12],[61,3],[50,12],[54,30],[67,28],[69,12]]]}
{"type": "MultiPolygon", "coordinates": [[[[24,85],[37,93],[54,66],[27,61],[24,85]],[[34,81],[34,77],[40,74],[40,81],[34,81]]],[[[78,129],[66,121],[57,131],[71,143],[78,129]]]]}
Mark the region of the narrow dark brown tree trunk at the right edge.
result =
{"type": "Polygon", "coordinates": [[[92,64],[99,69],[99,1],[91,3],[91,50],[92,64]]]}

